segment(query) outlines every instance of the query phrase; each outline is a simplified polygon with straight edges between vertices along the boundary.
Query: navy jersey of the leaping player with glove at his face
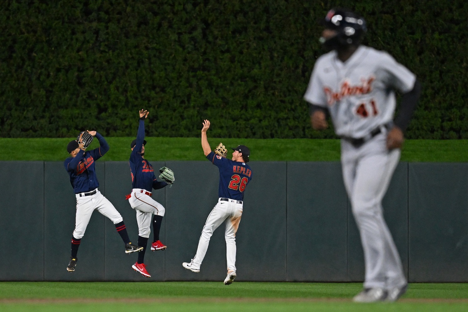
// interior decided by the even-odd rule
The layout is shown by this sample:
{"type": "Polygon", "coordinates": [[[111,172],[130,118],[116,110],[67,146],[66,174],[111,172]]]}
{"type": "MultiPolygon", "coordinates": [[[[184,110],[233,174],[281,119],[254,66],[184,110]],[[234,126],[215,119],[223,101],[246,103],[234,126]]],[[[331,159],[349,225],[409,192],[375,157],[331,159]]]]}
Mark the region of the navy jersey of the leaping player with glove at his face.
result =
{"type": "Polygon", "coordinates": [[[97,132],[95,138],[98,139],[100,147],[91,151],[80,150],[74,158],[68,157],[63,163],[70,175],[70,183],[75,194],[89,192],[99,187],[94,162],[109,151],[109,145],[97,132]]]}

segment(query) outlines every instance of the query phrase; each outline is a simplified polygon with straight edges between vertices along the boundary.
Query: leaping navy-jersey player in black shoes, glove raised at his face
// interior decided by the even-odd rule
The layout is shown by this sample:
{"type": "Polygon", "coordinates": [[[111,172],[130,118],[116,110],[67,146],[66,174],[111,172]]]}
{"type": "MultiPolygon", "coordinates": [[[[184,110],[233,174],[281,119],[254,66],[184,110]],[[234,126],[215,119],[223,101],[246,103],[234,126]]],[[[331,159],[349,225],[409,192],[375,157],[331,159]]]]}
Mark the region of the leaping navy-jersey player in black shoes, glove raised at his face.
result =
{"type": "Polygon", "coordinates": [[[109,151],[109,145],[102,135],[96,131],[88,131],[88,133],[98,139],[100,147],[85,151],[84,144],[76,140],[70,141],[66,147],[71,157],[65,160],[64,166],[70,175],[70,182],[76,196],[76,225],[72,236],[72,256],[66,268],[68,272],[75,271],[76,262],[78,261],[78,247],[80,247],[81,238],[94,210],[110,218],[114,223],[117,232],[125,243],[126,254],[143,249],[132,244],[128,238],[124,219],[114,205],[98,189],[99,182],[96,177],[95,161],[109,151]]]}

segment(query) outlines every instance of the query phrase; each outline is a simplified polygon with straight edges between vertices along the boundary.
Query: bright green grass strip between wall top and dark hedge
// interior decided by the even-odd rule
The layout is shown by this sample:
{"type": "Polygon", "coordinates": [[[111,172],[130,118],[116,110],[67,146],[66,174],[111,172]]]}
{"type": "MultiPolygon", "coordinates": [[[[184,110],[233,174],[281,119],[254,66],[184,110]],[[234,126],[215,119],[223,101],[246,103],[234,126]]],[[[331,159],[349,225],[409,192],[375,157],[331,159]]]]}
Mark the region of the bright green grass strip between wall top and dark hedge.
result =
{"type": "MultiPolygon", "coordinates": [[[[0,138],[0,160],[63,161],[69,155],[66,145],[73,138],[0,138]]],[[[134,138],[106,138],[110,151],[104,161],[126,161],[134,138]]],[[[146,138],[146,158],[157,160],[205,160],[200,138],[146,138]]],[[[212,148],[223,142],[227,147],[247,145],[251,161],[338,161],[337,139],[221,139],[208,138],[212,148]]],[[[98,147],[94,140],[89,148],[98,147]]],[[[468,140],[406,140],[402,161],[467,162],[468,140]]]]}

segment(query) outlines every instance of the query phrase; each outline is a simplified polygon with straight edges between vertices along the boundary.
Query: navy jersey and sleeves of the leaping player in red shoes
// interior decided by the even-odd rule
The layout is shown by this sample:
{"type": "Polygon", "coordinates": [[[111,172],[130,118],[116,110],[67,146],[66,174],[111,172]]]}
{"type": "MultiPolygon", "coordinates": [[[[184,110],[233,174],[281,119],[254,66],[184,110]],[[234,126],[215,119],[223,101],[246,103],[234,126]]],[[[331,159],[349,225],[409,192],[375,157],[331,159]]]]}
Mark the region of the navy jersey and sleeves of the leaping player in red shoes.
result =
{"type": "Polygon", "coordinates": [[[145,139],[145,121],[140,120],[137,132],[137,142],[130,154],[130,172],[132,174],[132,189],[161,189],[168,185],[164,181],[157,181],[153,166],[141,156],[141,148],[145,139]]]}

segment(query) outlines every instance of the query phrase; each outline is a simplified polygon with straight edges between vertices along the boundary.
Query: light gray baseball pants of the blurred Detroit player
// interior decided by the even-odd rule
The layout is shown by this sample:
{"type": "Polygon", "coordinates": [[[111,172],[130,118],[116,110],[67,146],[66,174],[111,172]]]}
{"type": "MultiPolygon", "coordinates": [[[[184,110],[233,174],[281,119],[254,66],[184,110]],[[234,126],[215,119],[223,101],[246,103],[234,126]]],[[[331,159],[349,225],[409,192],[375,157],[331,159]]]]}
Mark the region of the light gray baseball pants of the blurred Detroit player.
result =
{"type": "Polygon", "coordinates": [[[341,140],[344,185],[364,250],[365,288],[406,284],[398,250],[383,218],[382,199],[401,154],[400,149],[387,150],[386,137],[381,133],[359,148],[341,140]]]}

